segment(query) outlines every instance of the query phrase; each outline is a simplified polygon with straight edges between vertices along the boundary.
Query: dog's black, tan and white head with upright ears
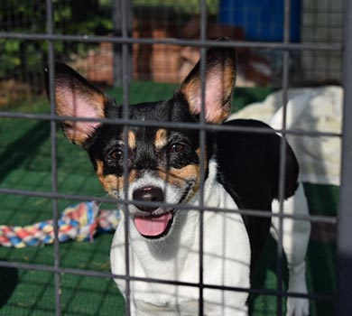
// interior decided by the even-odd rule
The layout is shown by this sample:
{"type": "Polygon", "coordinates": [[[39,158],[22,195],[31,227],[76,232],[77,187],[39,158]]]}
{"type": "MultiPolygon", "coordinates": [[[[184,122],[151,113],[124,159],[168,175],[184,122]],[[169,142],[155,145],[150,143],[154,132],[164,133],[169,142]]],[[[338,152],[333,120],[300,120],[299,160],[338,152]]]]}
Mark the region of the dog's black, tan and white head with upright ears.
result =
{"type": "MultiPolygon", "coordinates": [[[[207,123],[219,124],[228,116],[235,79],[235,51],[209,49],[204,85],[207,123]]],[[[202,107],[201,87],[198,63],[172,98],[131,106],[128,116],[138,122],[197,123],[202,107]]],[[[60,116],[110,119],[124,116],[123,107],[116,106],[112,98],[60,63],[55,69],[55,101],[60,116]]],[[[123,125],[70,120],[63,121],[62,128],[72,143],[88,151],[97,178],[110,195],[124,199],[125,184],[128,184],[128,200],[135,200],[135,204],[129,205],[129,213],[135,228],[144,237],[161,238],[171,229],[177,210],[158,203],[187,202],[199,190],[197,129],[129,125],[124,130],[123,125]]],[[[212,139],[207,135],[203,155],[206,173],[214,151],[212,139]]]]}

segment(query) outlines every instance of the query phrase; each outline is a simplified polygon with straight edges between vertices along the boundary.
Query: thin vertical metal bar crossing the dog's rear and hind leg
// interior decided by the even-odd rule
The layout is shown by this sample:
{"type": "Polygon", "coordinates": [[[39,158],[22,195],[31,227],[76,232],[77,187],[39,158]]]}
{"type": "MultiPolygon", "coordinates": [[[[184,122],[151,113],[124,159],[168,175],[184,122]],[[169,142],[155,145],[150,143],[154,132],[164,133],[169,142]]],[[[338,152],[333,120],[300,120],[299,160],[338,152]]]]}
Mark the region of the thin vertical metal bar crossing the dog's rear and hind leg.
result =
{"type": "MultiPolygon", "coordinates": [[[[290,42],[291,32],[291,0],[285,0],[283,4],[283,42],[290,42]]],[[[288,102],[288,88],[289,88],[289,74],[290,74],[290,52],[283,51],[283,125],[282,129],[286,129],[286,116],[287,116],[287,102],[288,102]]],[[[283,215],[283,201],[285,195],[285,165],[286,165],[286,134],[283,133],[280,144],[280,172],[279,172],[279,214],[283,215]]],[[[277,291],[283,292],[283,220],[279,217],[279,231],[278,231],[278,245],[277,245],[277,263],[276,263],[276,276],[277,276],[277,291]]],[[[276,315],[283,315],[283,296],[278,295],[276,298],[276,315]]]]}

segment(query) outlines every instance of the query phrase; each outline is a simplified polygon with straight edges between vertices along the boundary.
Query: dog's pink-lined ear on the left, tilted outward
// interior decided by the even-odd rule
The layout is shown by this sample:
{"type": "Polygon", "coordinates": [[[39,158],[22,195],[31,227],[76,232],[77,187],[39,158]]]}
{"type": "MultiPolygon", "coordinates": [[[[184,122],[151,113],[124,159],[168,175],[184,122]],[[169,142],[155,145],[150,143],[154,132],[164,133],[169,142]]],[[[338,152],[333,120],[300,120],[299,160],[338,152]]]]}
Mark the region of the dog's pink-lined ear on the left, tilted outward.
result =
{"type": "MultiPolygon", "coordinates": [[[[49,91],[48,69],[45,69],[46,87],[49,91]]],[[[69,66],[55,63],[55,103],[59,116],[103,118],[106,98],[104,93],[93,86],[69,66]]],[[[93,135],[100,123],[88,121],[63,121],[62,129],[74,144],[83,145],[93,135]]]]}

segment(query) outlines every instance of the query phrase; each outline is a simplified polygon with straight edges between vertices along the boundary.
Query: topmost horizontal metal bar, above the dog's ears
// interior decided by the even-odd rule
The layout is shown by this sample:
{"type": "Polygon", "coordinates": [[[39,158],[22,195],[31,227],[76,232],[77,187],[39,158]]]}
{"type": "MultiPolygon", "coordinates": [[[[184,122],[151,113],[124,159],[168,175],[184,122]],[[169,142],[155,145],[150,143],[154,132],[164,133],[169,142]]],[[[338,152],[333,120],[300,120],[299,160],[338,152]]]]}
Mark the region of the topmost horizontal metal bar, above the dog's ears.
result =
{"type": "Polygon", "coordinates": [[[5,33],[0,32],[0,38],[17,39],[26,41],[64,41],[64,42],[113,42],[119,44],[170,44],[193,47],[242,47],[242,48],[267,48],[275,50],[289,51],[341,51],[341,43],[325,42],[304,42],[304,43],[284,43],[284,42],[245,42],[245,41],[228,41],[218,42],[213,40],[182,40],[175,38],[151,39],[151,38],[132,38],[123,36],[97,36],[97,35],[65,35],[65,34],[45,34],[45,33],[5,33]]]}

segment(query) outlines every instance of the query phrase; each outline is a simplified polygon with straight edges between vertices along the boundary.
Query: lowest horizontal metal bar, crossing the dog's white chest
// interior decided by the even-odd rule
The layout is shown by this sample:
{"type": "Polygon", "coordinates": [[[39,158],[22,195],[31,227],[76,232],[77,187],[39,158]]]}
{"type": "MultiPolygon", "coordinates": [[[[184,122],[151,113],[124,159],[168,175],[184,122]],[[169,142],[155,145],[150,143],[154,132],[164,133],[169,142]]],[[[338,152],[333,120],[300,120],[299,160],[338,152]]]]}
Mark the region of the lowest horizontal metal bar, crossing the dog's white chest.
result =
{"type": "Polygon", "coordinates": [[[100,277],[100,278],[114,278],[114,279],[129,279],[130,281],[135,282],[146,282],[146,283],[161,283],[161,284],[171,284],[178,286],[190,286],[190,287],[199,287],[213,289],[213,290],[221,290],[221,291],[232,291],[232,292],[245,292],[245,293],[256,293],[263,295],[271,295],[271,296],[283,296],[283,297],[301,297],[301,298],[309,298],[310,300],[316,301],[333,301],[334,296],[330,294],[306,294],[306,293],[287,293],[287,292],[279,292],[271,289],[248,289],[242,287],[233,287],[233,286],[223,286],[223,285],[215,285],[215,284],[199,284],[199,283],[191,283],[191,282],[181,282],[181,281],[170,281],[170,280],[162,280],[155,278],[144,278],[137,276],[129,276],[123,274],[110,274],[106,272],[100,271],[92,271],[92,270],[82,270],[75,268],[66,268],[66,267],[55,267],[52,265],[35,265],[35,264],[23,264],[19,262],[8,262],[1,261],[0,266],[8,267],[8,268],[18,268],[18,269],[26,269],[32,271],[42,271],[48,273],[60,273],[60,274],[73,274],[73,275],[82,275],[82,276],[92,276],[92,277],[100,277]]]}

